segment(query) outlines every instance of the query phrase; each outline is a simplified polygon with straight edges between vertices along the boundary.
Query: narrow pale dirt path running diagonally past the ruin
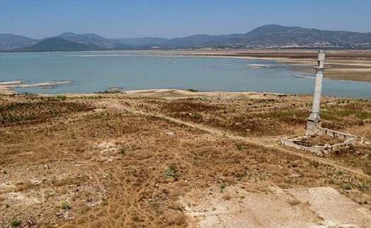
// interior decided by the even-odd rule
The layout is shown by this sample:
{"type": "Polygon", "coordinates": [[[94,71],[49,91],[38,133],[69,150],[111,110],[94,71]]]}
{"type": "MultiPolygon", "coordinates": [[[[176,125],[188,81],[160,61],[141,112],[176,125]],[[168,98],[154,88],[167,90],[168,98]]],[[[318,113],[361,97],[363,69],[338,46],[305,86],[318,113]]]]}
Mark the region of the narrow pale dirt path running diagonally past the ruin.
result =
{"type": "Polygon", "coordinates": [[[193,128],[197,128],[199,130],[203,130],[203,131],[208,132],[208,133],[213,134],[213,135],[228,137],[229,139],[234,139],[236,141],[248,142],[248,143],[251,143],[251,144],[259,145],[261,147],[277,149],[280,152],[284,152],[285,154],[292,154],[292,155],[295,155],[295,156],[299,156],[303,159],[307,159],[309,161],[316,161],[316,162],[319,162],[321,164],[330,165],[330,166],[335,167],[336,169],[343,169],[343,170],[349,171],[350,173],[353,173],[355,176],[358,176],[360,178],[366,178],[368,180],[371,180],[371,176],[368,176],[367,174],[363,173],[363,171],[360,171],[359,169],[353,169],[353,168],[350,168],[350,167],[347,167],[347,166],[343,166],[341,164],[336,163],[335,161],[331,161],[331,160],[326,159],[326,158],[321,158],[319,156],[313,156],[312,154],[304,154],[304,153],[301,153],[301,152],[296,152],[294,150],[281,147],[276,142],[278,142],[278,140],[280,138],[282,138],[282,136],[280,136],[280,137],[258,137],[258,138],[241,137],[241,136],[238,136],[238,135],[233,135],[230,132],[224,132],[222,130],[217,130],[217,129],[212,128],[212,127],[199,125],[199,124],[196,124],[196,123],[193,123],[193,122],[186,122],[186,121],[179,120],[179,119],[176,119],[176,118],[171,118],[169,116],[162,115],[162,114],[143,112],[141,110],[136,110],[134,108],[129,108],[127,106],[122,106],[120,103],[115,103],[116,108],[119,108],[119,106],[123,110],[125,110],[129,113],[133,113],[135,115],[154,116],[156,118],[163,118],[163,119],[169,120],[171,122],[176,122],[180,125],[186,125],[188,127],[193,127],[193,128]]]}

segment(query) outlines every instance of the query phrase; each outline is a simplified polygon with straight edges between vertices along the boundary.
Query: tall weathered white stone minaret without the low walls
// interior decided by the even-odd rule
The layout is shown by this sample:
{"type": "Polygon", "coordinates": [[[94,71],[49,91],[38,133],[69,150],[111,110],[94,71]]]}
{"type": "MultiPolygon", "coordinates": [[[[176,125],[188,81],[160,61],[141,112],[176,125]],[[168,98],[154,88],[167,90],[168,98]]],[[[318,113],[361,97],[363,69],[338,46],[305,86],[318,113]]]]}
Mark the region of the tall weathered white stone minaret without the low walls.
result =
{"type": "Polygon", "coordinates": [[[315,135],[321,127],[321,118],[319,117],[319,104],[321,101],[322,79],[324,78],[324,59],[326,52],[318,52],[318,61],[316,69],[316,84],[314,86],[312,113],[307,118],[306,135],[315,135]]]}

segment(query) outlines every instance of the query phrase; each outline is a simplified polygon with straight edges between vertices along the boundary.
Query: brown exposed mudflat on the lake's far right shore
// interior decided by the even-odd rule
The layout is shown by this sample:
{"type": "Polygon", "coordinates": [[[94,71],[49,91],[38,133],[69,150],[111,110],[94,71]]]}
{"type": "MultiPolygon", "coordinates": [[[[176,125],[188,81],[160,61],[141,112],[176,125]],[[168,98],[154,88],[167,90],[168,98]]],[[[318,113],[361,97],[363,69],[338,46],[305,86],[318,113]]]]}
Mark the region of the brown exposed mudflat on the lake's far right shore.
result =
{"type": "MultiPolygon", "coordinates": [[[[248,59],[270,59],[284,62],[299,72],[314,72],[316,50],[183,50],[153,52],[152,55],[195,55],[212,57],[234,57],[248,59]],[[312,67],[313,66],[313,67],[312,67]]],[[[251,66],[264,67],[264,66],[251,66]]],[[[326,50],[325,78],[371,81],[370,50],[326,50]]]]}

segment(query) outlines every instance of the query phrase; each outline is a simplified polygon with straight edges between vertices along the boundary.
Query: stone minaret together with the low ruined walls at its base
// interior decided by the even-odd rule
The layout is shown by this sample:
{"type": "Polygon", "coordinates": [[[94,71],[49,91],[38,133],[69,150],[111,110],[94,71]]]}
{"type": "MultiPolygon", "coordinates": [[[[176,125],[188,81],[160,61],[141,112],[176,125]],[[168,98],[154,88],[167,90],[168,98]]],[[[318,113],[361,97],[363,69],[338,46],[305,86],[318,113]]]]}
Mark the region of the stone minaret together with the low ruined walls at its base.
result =
{"type": "Polygon", "coordinates": [[[312,113],[307,118],[307,126],[304,137],[295,137],[295,138],[285,138],[281,140],[281,144],[294,147],[296,149],[312,152],[314,154],[323,155],[331,152],[332,149],[338,149],[341,147],[348,147],[349,144],[352,144],[357,140],[355,135],[350,135],[343,132],[337,132],[330,130],[328,128],[321,127],[321,117],[319,116],[319,108],[321,104],[321,91],[322,91],[322,79],[324,78],[324,59],[326,52],[320,50],[318,52],[317,65],[314,67],[316,70],[316,82],[314,84],[314,94],[313,94],[313,104],[312,104],[312,113]],[[314,145],[312,147],[306,147],[298,142],[302,142],[309,137],[314,137],[315,135],[329,135],[332,138],[341,137],[344,139],[344,142],[338,144],[324,144],[324,146],[314,145]]]}

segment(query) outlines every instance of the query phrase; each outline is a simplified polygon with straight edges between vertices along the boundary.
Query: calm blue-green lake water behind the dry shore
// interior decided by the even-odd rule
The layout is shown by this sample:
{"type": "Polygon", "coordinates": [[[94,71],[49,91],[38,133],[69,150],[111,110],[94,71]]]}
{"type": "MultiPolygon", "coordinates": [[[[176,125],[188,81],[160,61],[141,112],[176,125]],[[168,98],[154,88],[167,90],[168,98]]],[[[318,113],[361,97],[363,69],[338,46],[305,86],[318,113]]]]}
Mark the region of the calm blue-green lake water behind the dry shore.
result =
{"type": "MultiPolygon", "coordinates": [[[[73,81],[52,89],[15,89],[28,93],[93,93],[113,87],[312,93],[314,80],[297,75],[314,76],[258,59],[156,57],[125,51],[0,54],[0,81],[73,81]],[[261,66],[253,68],[254,64],[261,66]]],[[[324,79],[323,94],[371,98],[371,83],[324,79]]]]}

